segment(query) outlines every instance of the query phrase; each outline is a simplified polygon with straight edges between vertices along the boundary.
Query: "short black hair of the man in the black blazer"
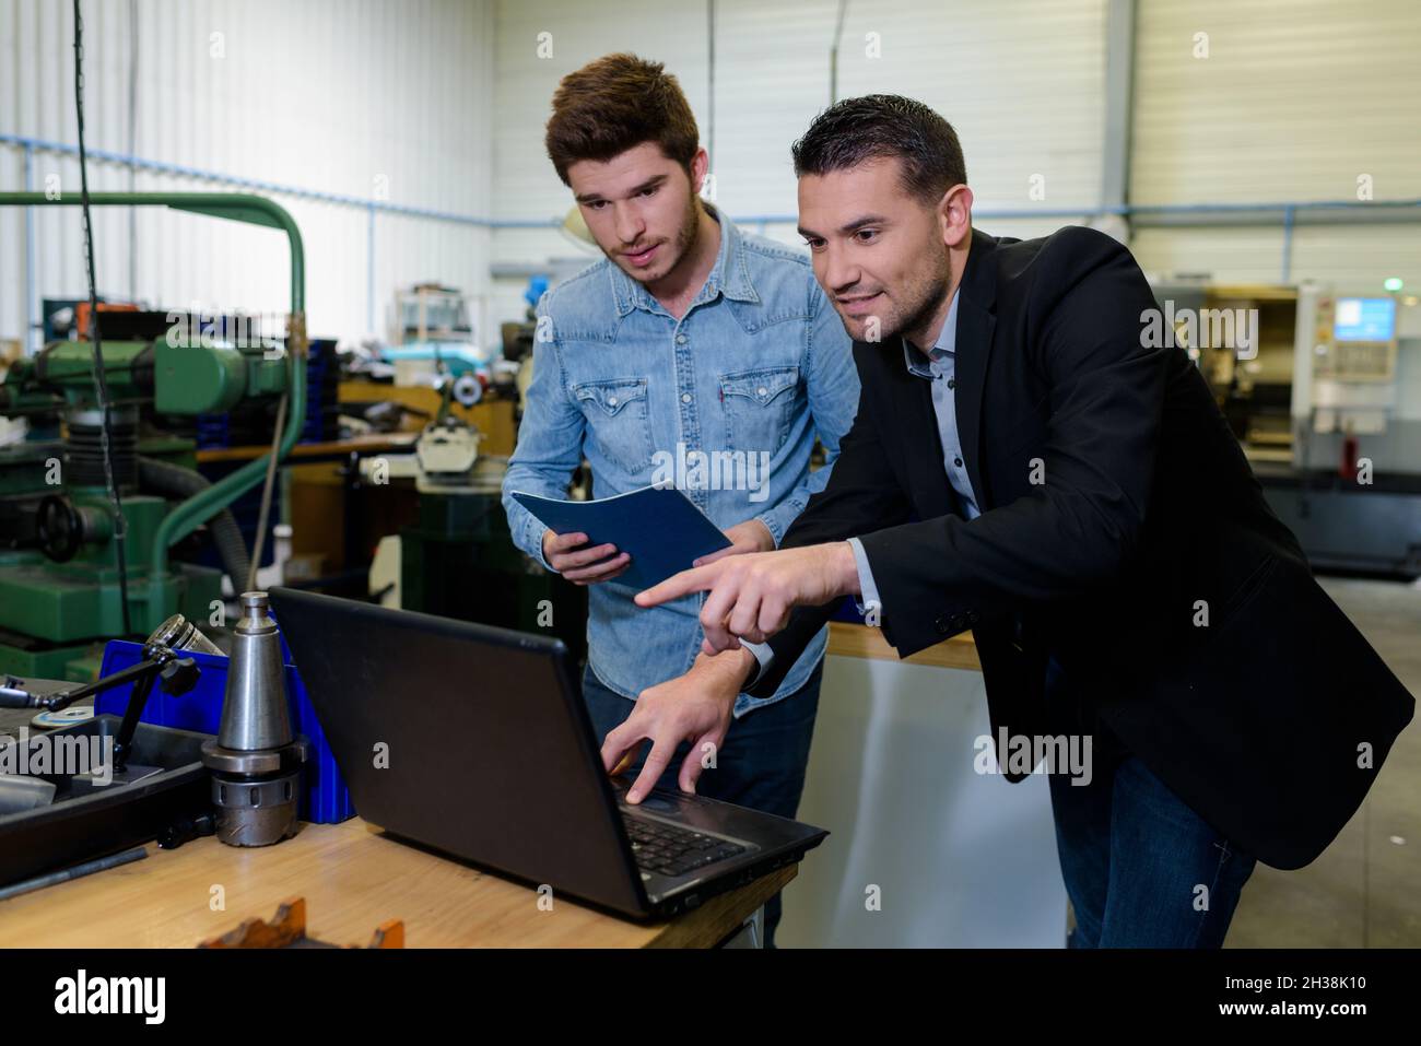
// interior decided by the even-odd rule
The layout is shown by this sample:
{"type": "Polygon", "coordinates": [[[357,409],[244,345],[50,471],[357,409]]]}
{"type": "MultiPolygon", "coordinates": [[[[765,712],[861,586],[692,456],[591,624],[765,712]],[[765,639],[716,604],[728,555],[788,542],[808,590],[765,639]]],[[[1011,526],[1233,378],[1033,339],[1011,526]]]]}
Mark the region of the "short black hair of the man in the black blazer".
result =
{"type": "Polygon", "coordinates": [[[895,156],[902,162],[904,190],[925,203],[936,203],[953,185],[968,180],[952,125],[922,102],[897,94],[836,102],[814,118],[790,152],[796,178],[895,156]]]}

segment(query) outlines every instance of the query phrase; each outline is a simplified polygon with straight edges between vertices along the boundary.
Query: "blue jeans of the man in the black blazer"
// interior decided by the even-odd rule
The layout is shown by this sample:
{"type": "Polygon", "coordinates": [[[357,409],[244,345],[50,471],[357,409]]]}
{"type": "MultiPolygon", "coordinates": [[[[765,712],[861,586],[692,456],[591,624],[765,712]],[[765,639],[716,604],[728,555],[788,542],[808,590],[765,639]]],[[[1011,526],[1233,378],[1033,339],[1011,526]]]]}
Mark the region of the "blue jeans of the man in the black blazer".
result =
{"type": "Polygon", "coordinates": [[[1047,671],[1053,733],[1093,735],[1088,784],[1050,775],[1070,948],[1219,948],[1255,858],[1175,796],[1047,671]],[[1104,742],[1104,743],[1103,743],[1104,742]]]}

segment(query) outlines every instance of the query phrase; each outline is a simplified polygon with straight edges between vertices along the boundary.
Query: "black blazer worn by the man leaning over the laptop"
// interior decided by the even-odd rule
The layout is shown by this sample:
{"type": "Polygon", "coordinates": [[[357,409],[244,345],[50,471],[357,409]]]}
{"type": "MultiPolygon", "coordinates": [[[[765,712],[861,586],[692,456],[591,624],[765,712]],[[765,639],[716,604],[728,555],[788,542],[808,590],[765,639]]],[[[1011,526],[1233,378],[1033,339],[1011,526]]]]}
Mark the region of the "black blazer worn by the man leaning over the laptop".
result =
{"type": "MultiPolygon", "coordinates": [[[[1084,227],[973,230],[959,294],[958,429],[982,516],[958,509],[902,341],[855,343],[858,415],[782,546],[861,537],[899,657],[971,628],[993,740],[1050,732],[1054,655],[1218,831],[1307,864],[1415,701],[1313,580],[1184,350],[1142,344],[1158,306],[1125,247],[1084,227]]],[[[774,691],[833,610],[794,611],[750,694],[774,691]]]]}

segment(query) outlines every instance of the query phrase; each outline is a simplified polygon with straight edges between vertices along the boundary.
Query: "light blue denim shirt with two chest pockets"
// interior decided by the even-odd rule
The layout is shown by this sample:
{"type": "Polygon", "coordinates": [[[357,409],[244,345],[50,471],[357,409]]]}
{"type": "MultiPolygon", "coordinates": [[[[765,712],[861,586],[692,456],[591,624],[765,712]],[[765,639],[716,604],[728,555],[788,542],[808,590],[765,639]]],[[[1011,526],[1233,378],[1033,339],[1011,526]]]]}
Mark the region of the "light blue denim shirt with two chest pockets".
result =
{"type": "MultiPolygon", "coordinates": [[[[539,301],[533,379],[503,507],[514,543],[544,567],[547,527],[510,495],[567,497],[584,455],[593,497],[675,482],[722,530],[757,519],[776,546],[828,482],[858,409],[848,334],[807,256],[710,213],[720,250],[679,321],[605,259],[539,301]],[[827,465],[810,473],[816,432],[827,465]],[[729,452],[722,462],[739,453],[745,466],[698,469],[695,452],[729,452]]],[[[588,586],[588,662],[632,699],[691,668],[705,601],[698,593],[642,610],[637,591],[617,580],[588,586]]],[[[827,630],[773,695],[739,695],[735,715],[799,689],[826,645],[827,630]]]]}

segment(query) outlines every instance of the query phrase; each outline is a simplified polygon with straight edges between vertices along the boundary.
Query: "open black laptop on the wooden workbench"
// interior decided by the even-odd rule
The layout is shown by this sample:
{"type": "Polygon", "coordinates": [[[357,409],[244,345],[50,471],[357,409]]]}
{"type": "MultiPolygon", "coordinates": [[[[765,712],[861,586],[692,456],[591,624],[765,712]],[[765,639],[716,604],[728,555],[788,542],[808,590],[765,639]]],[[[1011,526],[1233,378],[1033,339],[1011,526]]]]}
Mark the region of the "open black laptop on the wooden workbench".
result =
{"type": "Polygon", "coordinates": [[[664,918],[799,861],[828,834],[679,789],[628,804],[631,780],[604,770],[560,640],[270,595],[357,812],[391,836],[664,918]]]}

